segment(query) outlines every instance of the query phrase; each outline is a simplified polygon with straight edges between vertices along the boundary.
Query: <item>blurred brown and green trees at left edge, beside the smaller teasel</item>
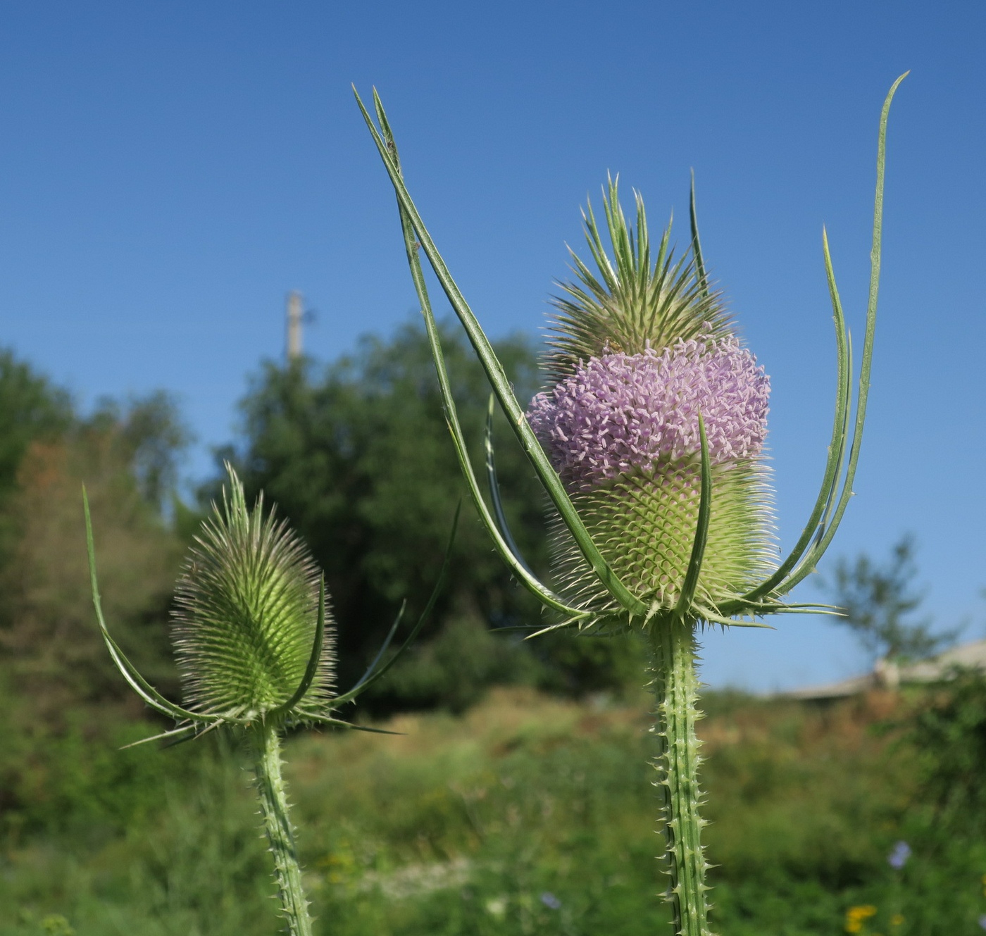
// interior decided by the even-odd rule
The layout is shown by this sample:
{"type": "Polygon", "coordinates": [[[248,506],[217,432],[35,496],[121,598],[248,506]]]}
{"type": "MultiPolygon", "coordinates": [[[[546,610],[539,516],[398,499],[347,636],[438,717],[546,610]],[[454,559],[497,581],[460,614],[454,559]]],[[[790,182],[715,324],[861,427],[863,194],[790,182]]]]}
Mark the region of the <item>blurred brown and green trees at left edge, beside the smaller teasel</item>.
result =
{"type": "Polygon", "coordinates": [[[64,392],[0,352],[0,676],[29,720],[58,726],[73,706],[126,698],[93,631],[83,482],[120,639],[173,682],[164,621],[180,547],[163,507],[186,441],[164,393],[105,400],[84,417],[64,392]]]}

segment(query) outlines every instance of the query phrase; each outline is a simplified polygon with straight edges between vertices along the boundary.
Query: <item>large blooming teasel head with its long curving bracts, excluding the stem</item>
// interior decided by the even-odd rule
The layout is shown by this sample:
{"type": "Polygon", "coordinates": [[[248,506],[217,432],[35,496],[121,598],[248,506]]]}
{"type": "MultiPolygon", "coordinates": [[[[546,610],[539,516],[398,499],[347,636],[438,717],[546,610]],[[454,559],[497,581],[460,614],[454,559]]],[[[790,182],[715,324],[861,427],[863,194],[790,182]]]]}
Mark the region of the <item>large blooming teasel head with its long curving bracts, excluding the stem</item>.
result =
{"type": "MultiPolygon", "coordinates": [[[[886,118],[890,101],[903,77],[894,83],[880,114],[877,198],[871,254],[873,263],[855,405],[852,398],[853,368],[849,332],[835,286],[827,237],[823,232],[822,250],[832,301],[838,356],[832,435],[821,489],[808,523],[789,555],[772,570],[765,568],[771,543],[771,527],[764,468],[757,448],[762,445],[762,428],[750,430],[750,425],[758,421],[762,425],[766,408],[765,405],[762,409],[760,407],[761,403],[765,404],[766,383],[765,379],[756,376],[755,367],[750,367],[752,360],[735,343],[736,337],[722,302],[709,290],[698,237],[694,188],[690,201],[690,256],[687,260],[678,260],[676,263],[669,260],[666,233],[652,264],[643,205],[638,201],[636,231],[635,236],[631,236],[615,197],[615,186],[610,188],[605,204],[609,231],[613,235],[615,265],[602,246],[592,213],[587,216],[587,235],[599,267],[599,276],[578,257],[575,258],[580,282],[565,287],[566,295],[557,303],[559,315],[546,362],[549,377],[556,383],[553,388],[548,389],[547,396],[535,401],[531,411],[541,437],[555,456],[555,463],[552,464],[552,459],[542,448],[541,440],[528,421],[525,407],[514,396],[503,366],[458,289],[407,191],[393,134],[379,96],[375,91],[374,104],[379,126],[357,96],[397,196],[411,275],[428,328],[459,463],[473,502],[497,551],[518,580],[546,608],[564,616],[559,624],[552,626],[577,624],[580,627],[600,625],[608,628],[617,622],[621,625],[636,625],[653,622],[668,615],[682,621],[755,625],[756,618],[764,614],[814,610],[814,606],[785,604],[782,599],[814,569],[835,535],[852,496],[852,483],[866,418],[877,318],[886,118]],[[566,531],[565,535],[571,538],[571,547],[567,549],[568,558],[565,560],[566,587],[562,594],[556,593],[531,573],[504,523],[489,433],[487,473],[490,505],[486,504],[483,497],[458,424],[456,402],[445,368],[419,251],[423,251],[428,257],[486,371],[496,400],[506,413],[515,435],[557,511],[559,531],[566,531]],[[623,357],[620,358],[619,355],[623,357]],[[691,365],[687,364],[688,360],[691,365]],[[673,422],[680,413],[659,415],[657,422],[650,417],[642,419],[638,426],[640,435],[647,435],[647,458],[654,454],[666,456],[667,467],[661,468],[661,458],[652,464],[659,466],[669,485],[679,486],[679,501],[687,502],[690,511],[688,513],[682,510],[674,517],[658,517],[653,512],[653,503],[640,508],[637,515],[641,533],[637,538],[639,543],[646,543],[647,536],[659,530],[666,530],[669,535],[673,531],[681,540],[673,547],[662,546],[663,549],[670,550],[669,559],[651,561],[649,558],[643,564],[631,554],[631,548],[621,552],[622,547],[606,539],[611,538],[615,531],[610,508],[604,503],[605,498],[601,494],[593,502],[583,498],[589,475],[582,468],[566,464],[564,453],[555,448],[556,442],[559,446],[567,444],[563,443],[558,434],[559,430],[560,433],[565,433],[566,427],[562,419],[564,413],[559,412],[557,419],[551,413],[552,402],[556,406],[559,403],[564,404],[562,409],[567,405],[568,417],[574,419],[576,425],[582,424],[581,421],[592,411],[599,414],[600,409],[605,408],[599,395],[592,404],[588,399],[577,404],[574,397],[563,393],[564,388],[560,387],[565,381],[574,382],[571,385],[573,388],[577,385],[588,387],[586,379],[608,388],[602,392],[602,396],[610,397],[608,405],[612,410],[613,401],[632,398],[634,387],[639,388],[638,375],[641,368],[650,368],[655,372],[664,368],[669,376],[676,373],[678,377],[690,371],[696,381],[686,380],[685,383],[688,384],[689,391],[693,392],[693,404],[698,410],[694,413],[694,421],[690,427],[683,427],[684,431],[677,436],[676,442],[670,442],[665,436],[661,440],[654,440],[652,434],[655,429],[664,432],[664,420],[670,418],[673,422]],[[608,371],[609,377],[612,377],[616,370],[621,372],[622,383],[619,386],[607,379],[605,373],[608,371]],[[704,371],[704,376],[699,371],[704,371]],[[729,418],[725,423],[719,423],[710,410],[709,416],[715,427],[710,439],[705,413],[701,408],[703,404],[708,408],[711,397],[719,396],[716,380],[725,371],[734,372],[736,382],[733,390],[739,396],[745,395],[745,408],[737,413],[739,422],[744,425],[734,424],[729,418]],[[699,386],[703,381],[706,390],[699,386]],[[556,389],[561,398],[552,400],[552,393],[556,389]],[[697,447],[694,444],[696,428],[697,447]],[[685,444],[688,451],[683,448],[685,444]],[[665,450],[662,450],[662,445],[666,447],[665,450]],[[715,456],[710,445],[717,447],[715,456]],[[744,454],[736,459],[723,459],[723,454],[731,449],[744,454]],[[677,458],[678,455],[681,458],[677,458]],[[722,460],[717,461],[719,459],[722,460]],[[680,465],[681,470],[675,473],[671,468],[672,463],[680,465]],[[566,474],[565,477],[559,475],[556,465],[566,474]],[[673,480],[675,477],[679,480],[673,480]],[[694,489],[696,483],[697,497],[694,489]],[[718,505],[717,500],[721,501],[718,505]],[[727,523],[723,518],[725,514],[740,514],[742,519],[740,522],[727,523]],[[690,534],[686,529],[689,516],[694,518],[694,528],[690,534]],[[703,575],[702,569],[707,560],[706,552],[710,541],[709,567],[703,575]],[[736,549],[732,557],[726,555],[728,548],[736,549]],[[683,552],[688,553],[688,560],[681,574],[683,552]],[[668,576],[668,581],[663,580],[664,576],[668,576]]],[[[718,389],[729,391],[728,382],[718,389]]],[[[619,408],[618,405],[616,408],[619,408]]],[[[633,442],[629,437],[628,441],[633,442]]],[[[627,446],[628,452],[631,447],[627,446]]],[[[632,452],[630,455],[632,458],[625,461],[633,469],[631,474],[636,472],[643,475],[650,470],[642,465],[632,464],[632,459],[637,456],[632,452]]],[[[608,474],[613,465],[619,462],[618,456],[610,458],[607,455],[598,460],[597,468],[603,474],[608,474]]],[[[597,468],[589,468],[589,474],[597,468]]],[[[623,481],[607,477],[607,483],[618,486],[623,481]]],[[[604,486],[600,484],[599,490],[604,486]]],[[[621,504],[630,504],[633,501],[638,492],[630,489],[634,486],[639,491],[640,482],[634,480],[624,485],[625,489],[621,490],[619,498],[621,504]]]]}

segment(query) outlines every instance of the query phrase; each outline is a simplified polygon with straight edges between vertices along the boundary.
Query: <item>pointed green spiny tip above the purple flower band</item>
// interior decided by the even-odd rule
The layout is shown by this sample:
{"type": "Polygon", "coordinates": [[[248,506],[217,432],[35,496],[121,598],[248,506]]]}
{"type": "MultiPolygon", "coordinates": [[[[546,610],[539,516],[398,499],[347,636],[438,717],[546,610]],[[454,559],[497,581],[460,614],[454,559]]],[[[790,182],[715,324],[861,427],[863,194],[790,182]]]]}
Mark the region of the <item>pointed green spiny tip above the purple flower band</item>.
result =
{"type": "Polygon", "coordinates": [[[709,290],[697,255],[674,260],[669,224],[654,256],[644,200],[634,191],[636,218],[631,228],[619,201],[618,181],[610,178],[602,191],[612,256],[589,202],[582,217],[596,270],[569,249],[576,281],[556,283],[562,295],[552,299],[556,313],[543,360],[552,383],[605,353],[660,352],[675,341],[732,333],[722,295],[709,290]]]}

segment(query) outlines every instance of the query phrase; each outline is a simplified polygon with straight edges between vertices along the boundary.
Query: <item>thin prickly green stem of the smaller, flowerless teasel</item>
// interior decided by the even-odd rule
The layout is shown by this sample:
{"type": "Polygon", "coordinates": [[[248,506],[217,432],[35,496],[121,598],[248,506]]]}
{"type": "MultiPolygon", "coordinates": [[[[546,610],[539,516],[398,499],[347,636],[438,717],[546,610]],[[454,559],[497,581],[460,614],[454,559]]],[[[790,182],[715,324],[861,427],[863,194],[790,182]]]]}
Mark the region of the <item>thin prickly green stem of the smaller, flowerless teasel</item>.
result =
{"type": "Polygon", "coordinates": [[[269,722],[252,730],[256,755],[256,791],[270,851],[274,856],[274,877],[289,936],[312,936],[312,918],[302,890],[302,869],[298,864],[294,830],[288,816],[287,790],[281,777],[281,741],[278,726],[269,722]]]}

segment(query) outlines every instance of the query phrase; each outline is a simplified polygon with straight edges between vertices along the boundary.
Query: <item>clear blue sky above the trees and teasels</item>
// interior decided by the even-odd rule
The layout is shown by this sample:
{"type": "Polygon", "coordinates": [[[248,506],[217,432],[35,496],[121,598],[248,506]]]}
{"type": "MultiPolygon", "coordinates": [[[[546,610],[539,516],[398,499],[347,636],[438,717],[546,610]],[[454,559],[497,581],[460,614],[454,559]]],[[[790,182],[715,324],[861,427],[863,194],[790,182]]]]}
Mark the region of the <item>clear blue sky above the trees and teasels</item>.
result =
{"type": "MultiPolygon", "coordinates": [[[[903,532],[938,620],[986,633],[982,492],[986,5],[12,0],[0,15],[0,343],[83,406],[164,387],[199,443],[317,309],[330,359],[415,302],[350,82],[491,334],[533,330],[608,171],[686,218],[773,381],[781,540],[807,518],[834,354],[820,232],[862,333],[877,119],[888,136],[871,418],[832,554],[903,532]]],[[[685,240],[685,228],[678,228],[685,240]]],[[[805,600],[817,598],[811,587],[805,600]]],[[[706,679],[767,689],[866,666],[823,619],[713,634],[706,679]]]]}

